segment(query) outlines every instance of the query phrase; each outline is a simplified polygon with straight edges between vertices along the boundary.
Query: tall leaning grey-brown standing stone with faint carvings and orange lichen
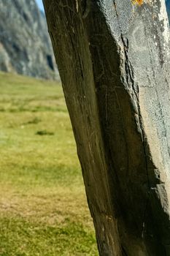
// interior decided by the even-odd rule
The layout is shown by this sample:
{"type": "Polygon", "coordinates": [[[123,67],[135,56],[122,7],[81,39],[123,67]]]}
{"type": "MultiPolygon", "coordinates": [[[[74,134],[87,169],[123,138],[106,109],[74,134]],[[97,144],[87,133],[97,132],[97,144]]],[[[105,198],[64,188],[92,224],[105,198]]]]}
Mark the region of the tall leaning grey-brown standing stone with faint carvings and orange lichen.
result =
{"type": "Polygon", "coordinates": [[[44,0],[101,256],[170,255],[163,0],[44,0]]]}

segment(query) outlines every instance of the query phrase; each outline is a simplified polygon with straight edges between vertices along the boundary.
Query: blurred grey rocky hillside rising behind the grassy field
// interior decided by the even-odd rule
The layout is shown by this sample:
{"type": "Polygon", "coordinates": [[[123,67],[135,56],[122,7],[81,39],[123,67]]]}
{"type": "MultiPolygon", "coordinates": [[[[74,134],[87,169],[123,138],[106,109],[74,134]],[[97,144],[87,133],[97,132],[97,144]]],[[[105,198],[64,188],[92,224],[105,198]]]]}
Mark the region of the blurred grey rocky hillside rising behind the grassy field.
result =
{"type": "Polygon", "coordinates": [[[0,69],[58,77],[45,15],[34,0],[0,1],[0,69]]]}

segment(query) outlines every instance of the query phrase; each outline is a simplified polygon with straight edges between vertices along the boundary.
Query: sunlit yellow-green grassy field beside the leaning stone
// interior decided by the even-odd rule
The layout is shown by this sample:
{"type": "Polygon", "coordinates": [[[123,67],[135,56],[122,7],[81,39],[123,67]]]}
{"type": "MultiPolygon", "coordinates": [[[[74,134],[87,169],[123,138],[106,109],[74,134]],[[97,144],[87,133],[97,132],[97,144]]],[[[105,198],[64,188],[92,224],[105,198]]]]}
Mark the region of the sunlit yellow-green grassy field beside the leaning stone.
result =
{"type": "Polygon", "coordinates": [[[0,255],[98,255],[61,86],[0,72],[0,255]]]}

